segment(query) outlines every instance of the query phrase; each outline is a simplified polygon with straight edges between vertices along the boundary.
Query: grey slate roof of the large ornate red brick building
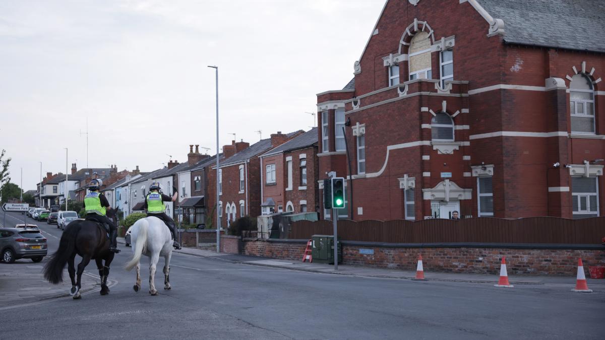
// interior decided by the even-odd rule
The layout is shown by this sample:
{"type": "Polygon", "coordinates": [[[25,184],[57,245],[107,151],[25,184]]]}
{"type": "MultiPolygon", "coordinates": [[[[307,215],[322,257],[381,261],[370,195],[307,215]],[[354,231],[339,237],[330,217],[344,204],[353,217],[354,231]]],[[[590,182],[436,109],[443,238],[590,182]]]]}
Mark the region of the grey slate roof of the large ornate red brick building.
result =
{"type": "Polygon", "coordinates": [[[605,52],[605,1],[477,0],[509,44],[605,52]]]}

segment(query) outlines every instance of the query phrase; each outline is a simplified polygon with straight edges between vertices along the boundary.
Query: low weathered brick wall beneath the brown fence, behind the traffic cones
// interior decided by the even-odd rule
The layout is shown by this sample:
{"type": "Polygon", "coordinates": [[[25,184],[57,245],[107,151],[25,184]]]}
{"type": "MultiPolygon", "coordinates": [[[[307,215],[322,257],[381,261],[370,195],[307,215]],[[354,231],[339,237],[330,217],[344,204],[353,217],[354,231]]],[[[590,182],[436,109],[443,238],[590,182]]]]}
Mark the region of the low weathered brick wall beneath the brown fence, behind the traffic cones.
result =
{"type": "MultiPolygon", "coordinates": [[[[303,240],[280,242],[244,239],[241,253],[258,257],[302,260],[305,247],[306,243],[303,240]]],[[[234,251],[237,246],[226,246],[225,249],[234,251]]],[[[605,249],[421,248],[394,245],[356,246],[344,242],[342,250],[344,264],[404,270],[416,270],[418,255],[422,254],[422,263],[427,272],[497,274],[502,257],[506,257],[506,269],[512,275],[575,276],[578,258],[582,258],[586,275],[588,275],[588,266],[605,266],[605,249]],[[374,254],[361,254],[359,249],[371,249],[374,254]]]]}

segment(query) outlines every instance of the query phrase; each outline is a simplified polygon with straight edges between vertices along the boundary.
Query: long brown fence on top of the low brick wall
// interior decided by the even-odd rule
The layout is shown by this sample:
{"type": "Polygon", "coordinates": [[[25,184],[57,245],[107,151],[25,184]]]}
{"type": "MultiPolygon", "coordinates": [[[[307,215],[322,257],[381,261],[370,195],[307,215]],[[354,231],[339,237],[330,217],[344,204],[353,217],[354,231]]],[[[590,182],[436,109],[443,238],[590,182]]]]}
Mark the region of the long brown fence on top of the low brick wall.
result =
{"type": "MultiPolygon", "coordinates": [[[[332,221],[296,221],[289,238],[332,235],[332,221]]],[[[517,220],[476,217],[454,221],[338,221],[341,240],[385,243],[554,243],[599,244],[605,237],[605,217],[568,220],[529,217],[517,220]]]]}

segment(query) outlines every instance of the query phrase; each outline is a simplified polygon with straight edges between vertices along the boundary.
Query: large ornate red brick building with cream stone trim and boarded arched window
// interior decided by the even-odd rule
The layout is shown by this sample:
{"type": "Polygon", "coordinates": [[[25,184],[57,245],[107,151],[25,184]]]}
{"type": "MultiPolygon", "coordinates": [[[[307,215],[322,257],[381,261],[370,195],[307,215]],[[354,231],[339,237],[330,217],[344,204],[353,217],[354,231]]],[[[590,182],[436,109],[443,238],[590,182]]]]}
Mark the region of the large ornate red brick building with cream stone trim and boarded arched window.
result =
{"type": "Polygon", "coordinates": [[[353,185],[342,216],[603,215],[604,10],[388,0],[355,78],[317,95],[319,174],[353,185]]]}

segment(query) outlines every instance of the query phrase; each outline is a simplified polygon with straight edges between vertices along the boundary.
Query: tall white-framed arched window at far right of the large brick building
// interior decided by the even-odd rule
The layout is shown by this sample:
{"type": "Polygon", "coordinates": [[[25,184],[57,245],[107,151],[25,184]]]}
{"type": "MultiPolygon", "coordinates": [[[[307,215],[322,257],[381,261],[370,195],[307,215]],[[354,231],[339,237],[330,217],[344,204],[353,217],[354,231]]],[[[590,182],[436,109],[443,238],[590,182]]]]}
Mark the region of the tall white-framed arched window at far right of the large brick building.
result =
{"type": "Polygon", "coordinates": [[[571,132],[595,133],[595,91],[590,78],[576,74],[569,84],[571,132]]]}

